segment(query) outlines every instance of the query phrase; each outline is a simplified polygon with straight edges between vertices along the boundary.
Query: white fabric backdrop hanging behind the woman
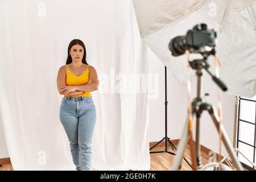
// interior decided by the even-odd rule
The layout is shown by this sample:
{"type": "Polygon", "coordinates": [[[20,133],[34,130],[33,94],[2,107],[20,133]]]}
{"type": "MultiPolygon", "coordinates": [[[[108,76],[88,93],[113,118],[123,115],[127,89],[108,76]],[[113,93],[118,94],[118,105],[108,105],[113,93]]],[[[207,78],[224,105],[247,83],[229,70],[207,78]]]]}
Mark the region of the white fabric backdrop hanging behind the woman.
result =
{"type": "Polygon", "coordinates": [[[149,170],[148,93],[135,77],[147,73],[147,49],[133,3],[2,0],[0,116],[14,170],[75,170],[56,86],[72,39],[100,78],[92,169],[149,170]]]}

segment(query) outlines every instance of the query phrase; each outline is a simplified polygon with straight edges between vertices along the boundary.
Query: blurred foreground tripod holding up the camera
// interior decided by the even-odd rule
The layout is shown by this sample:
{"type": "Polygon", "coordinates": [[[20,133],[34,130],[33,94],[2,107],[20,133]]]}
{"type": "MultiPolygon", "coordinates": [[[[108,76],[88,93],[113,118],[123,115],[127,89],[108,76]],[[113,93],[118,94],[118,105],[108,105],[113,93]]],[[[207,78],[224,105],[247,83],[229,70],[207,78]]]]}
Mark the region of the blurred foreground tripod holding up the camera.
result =
{"type": "MultiPolygon", "coordinates": [[[[224,91],[227,90],[226,86],[216,76],[213,76],[212,73],[209,72],[208,70],[209,64],[207,63],[207,59],[209,55],[203,55],[203,56],[204,56],[204,59],[189,61],[189,65],[191,66],[192,69],[196,70],[196,75],[197,75],[197,97],[192,101],[192,116],[196,115],[196,141],[195,141],[195,158],[196,159],[192,159],[193,169],[196,170],[196,168],[200,169],[202,167],[201,158],[200,158],[200,143],[199,143],[200,127],[199,126],[200,126],[201,114],[203,113],[204,110],[207,110],[217,130],[219,129],[219,127],[221,127],[224,145],[226,147],[226,150],[229,152],[229,155],[232,158],[234,165],[237,167],[238,170],[242,171],[243,170],[242,165],[236,158],[236,154],[234,153],[232,144],[228,138],[228,134],[226,133],[224,127],[222,125],[220,126],[220,118],[218,117],[216,110],[214,109],[214,106],[208,104],[207,102],[204,102],[203,99],[201,98],[201,93],[202,93],[201,83],[203,81],[203,78],[201,78],[203,76],[202,69],[205,69],[205,71],[209,73],[213,81],[216,82],[216,84],[220,86],[222,90],[224,91]],[[193,163],[193,161],[195,163],[193,163]]],[[[192,130],[191,120],[189,119],[189,116],[188,116],[183,129],[181,140],[179,142],[179,146],[178,146],[176,157],[174,159],[172,170],[177,171],[180,168],[180,163],[183,158],[185,146],[187,145],[189,139],[192,140],[191,135],[189,135],[189,132],[191,132],[191,130],[192,130]]]]}

